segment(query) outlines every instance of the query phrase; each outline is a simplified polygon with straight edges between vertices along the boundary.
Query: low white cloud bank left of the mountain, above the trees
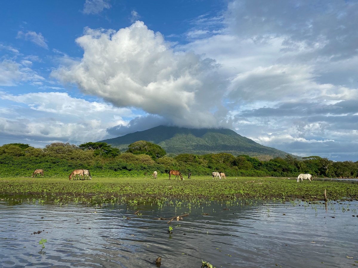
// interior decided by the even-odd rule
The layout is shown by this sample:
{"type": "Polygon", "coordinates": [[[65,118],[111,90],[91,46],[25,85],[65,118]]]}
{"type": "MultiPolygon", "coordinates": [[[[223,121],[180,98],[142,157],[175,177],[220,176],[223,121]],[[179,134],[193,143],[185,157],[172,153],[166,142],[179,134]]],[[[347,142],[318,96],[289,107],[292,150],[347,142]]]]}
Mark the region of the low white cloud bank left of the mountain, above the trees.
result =
{"type": "Polygon", "coordinates": [[[0,134],[11,135],[13,142],[24,137],[32,144],[40,140],[94,142],[108,138],[107,128],[127,125],[124,116],[136,116],[130,109],[72,98],[67,93],[0,92],[0,99],[8,105],[0,110],[0,134]]]}

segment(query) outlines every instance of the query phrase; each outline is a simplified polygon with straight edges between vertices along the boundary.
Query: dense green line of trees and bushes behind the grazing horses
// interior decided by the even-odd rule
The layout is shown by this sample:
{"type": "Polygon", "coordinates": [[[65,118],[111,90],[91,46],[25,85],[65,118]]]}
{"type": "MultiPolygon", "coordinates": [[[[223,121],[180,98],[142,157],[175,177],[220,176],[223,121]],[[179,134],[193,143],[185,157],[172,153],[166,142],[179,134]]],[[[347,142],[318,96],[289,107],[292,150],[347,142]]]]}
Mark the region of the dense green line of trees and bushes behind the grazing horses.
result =
{"type": "Polygon", "coordinates": [[[289,154],[267,161],[228,153],[168,157],[159,145],[144,140],[130,144],[124,153],[103,142],[81,145],[57,142],[45,148],[11,143],[0,147],[1,177],[26,177],[35,169],[44,169],[45,176],[68,176],[73,169],[89,169],[98,177],[136,177],[154,170],[165,174],[171,169],[184,176],[189,172],[192,176],[211,175],[213,171],[224,172],[228,177],[297,177],[300,173],[329,178],[358,176],[358,162],[333,162],[319,156],[296,159],[289,154]]]}

